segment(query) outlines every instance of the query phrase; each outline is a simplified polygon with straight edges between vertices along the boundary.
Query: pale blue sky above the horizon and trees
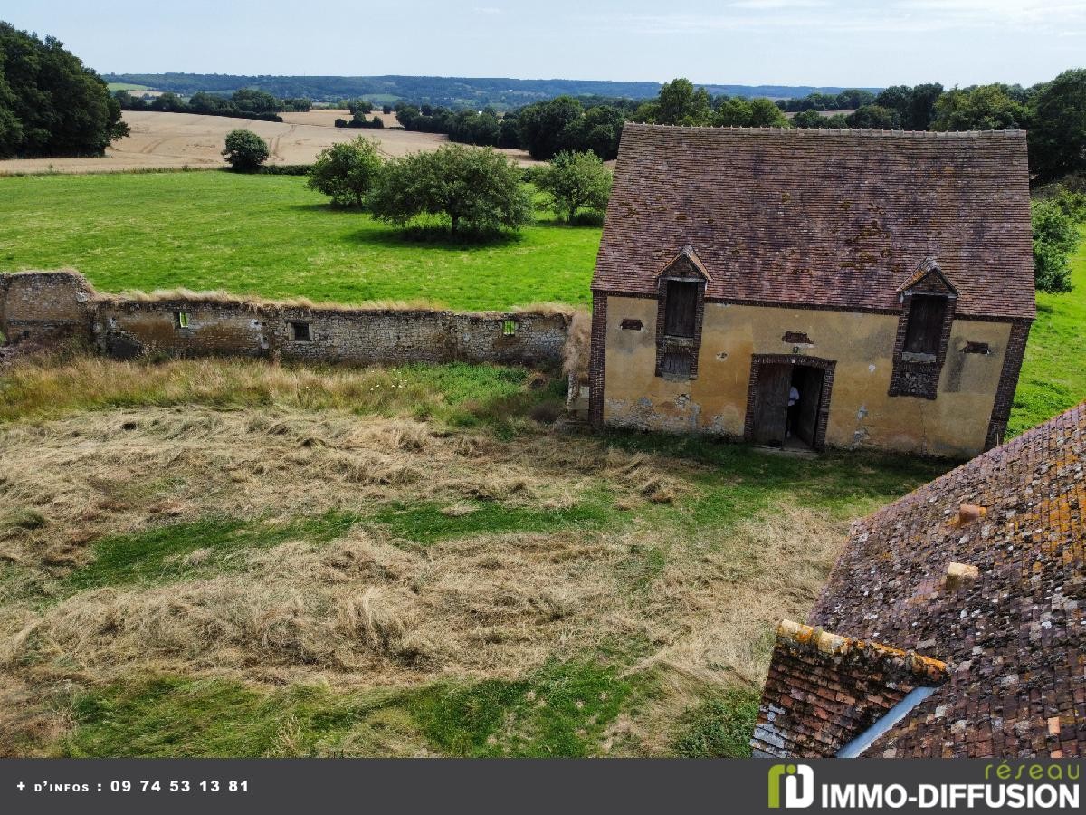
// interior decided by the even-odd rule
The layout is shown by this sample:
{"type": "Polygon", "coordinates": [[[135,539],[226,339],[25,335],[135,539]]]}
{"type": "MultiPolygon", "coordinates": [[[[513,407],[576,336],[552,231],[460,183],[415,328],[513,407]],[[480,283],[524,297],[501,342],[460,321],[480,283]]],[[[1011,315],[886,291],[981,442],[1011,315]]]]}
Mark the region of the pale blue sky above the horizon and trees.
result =
{"type": "Polygon", "coordinates": [[[1086,0],[4,0],[105,72],[1032,85],[1086,64],[1086,0]],[[17,3],[17,4],[14,4],[17,3]]]}

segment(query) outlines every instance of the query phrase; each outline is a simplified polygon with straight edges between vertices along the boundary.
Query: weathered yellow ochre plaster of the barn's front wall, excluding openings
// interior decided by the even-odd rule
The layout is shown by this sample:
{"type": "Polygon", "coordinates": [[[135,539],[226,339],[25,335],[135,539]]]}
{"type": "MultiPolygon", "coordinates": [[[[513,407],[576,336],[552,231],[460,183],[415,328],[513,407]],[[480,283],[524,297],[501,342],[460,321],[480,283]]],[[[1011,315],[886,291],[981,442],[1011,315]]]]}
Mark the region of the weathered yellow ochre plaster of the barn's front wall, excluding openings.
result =
{"type": "MultiPolygon", "coordinates": [[[[597,294],[597,297],[603,297],[597,294]]],[[[785,331],[807,334],[807,356],[836,369],[825,442],[933,455],[984,449],[1010,323],[956,318],[935,400],[889,397],[898,317],[891,314],[705,304],[697,379],[668,381],[656,371],[656,300],[607,298],[603,418],[606,424],[742,437],[754,354],[791,354],[785,331]],[[640,319],[643,328],[620,327],[640,319]],[[965,354],[967,341],[988,354],[965,354]]]]}

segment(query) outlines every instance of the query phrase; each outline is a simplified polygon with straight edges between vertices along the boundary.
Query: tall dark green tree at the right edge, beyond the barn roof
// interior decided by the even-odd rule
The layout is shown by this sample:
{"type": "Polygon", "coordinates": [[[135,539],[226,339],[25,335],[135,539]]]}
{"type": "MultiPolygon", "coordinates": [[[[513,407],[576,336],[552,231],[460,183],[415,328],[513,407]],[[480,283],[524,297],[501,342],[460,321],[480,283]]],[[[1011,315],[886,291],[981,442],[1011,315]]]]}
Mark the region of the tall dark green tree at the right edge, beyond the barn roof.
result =
{"type": "Polygon", "coordinates": [[[1086,171],[1086,68],[1064,71],[1037,89],[1030,167],[1041,180],[1086,171]]]}

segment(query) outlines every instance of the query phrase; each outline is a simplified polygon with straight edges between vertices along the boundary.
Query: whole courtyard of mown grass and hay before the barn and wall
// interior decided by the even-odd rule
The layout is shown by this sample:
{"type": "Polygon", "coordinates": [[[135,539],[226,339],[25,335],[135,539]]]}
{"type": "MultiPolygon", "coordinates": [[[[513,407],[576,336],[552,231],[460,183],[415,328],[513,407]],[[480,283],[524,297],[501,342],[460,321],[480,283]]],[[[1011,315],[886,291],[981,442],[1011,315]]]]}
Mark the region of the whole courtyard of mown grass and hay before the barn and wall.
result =
{"type": "Polygon", "coordinates": [[[0,755],[744,754],[776,620],[938,465],[594,437],[560,398],[9,361],[0,755]]]}

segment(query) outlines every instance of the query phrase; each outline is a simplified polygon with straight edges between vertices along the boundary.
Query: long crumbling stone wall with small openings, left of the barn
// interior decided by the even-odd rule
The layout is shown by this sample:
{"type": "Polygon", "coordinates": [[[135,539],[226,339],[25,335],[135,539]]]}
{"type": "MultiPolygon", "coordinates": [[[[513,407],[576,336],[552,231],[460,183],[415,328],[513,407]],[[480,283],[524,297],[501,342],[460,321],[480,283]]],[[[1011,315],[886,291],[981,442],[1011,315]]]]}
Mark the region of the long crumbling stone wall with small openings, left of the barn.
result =
{"type": "Polygon", "coordinates": [[[9,342],[85,341],[101,353],[209,354],[343,362],[476,362],[555,366],[569,315],[541,312],[298,305],[207,296],[98,294],[75,272],[0,275],[0,331],[9,342]]]}

